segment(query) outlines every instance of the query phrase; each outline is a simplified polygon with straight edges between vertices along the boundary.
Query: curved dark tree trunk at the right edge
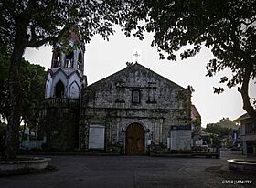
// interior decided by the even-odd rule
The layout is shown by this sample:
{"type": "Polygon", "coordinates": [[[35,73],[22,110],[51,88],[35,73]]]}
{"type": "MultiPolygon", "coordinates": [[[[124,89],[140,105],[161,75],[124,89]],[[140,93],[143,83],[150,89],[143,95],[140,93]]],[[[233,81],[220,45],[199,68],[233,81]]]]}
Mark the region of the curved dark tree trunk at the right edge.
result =
{"type": "Polygon", "coordinates": [[[238,90],[242,97],[243,109],[247,111],[252,121],[256,121],[256,110],[253,109],[251,105],[250,97],[248,94],[250,75],[251,75],[250,68],[246,68],[245,73],[243,75],[242,86],[238,90]]]}

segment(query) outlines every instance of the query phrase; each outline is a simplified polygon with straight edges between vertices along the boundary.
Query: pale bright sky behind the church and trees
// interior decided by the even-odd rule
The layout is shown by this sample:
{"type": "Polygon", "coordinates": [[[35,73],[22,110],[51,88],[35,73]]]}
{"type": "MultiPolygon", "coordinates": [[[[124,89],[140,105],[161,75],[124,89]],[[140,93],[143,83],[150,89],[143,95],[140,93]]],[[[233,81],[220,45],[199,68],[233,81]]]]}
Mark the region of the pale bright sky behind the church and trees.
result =
{"type": "MultiPolygon", "coordinates": [[[[150,68],[183,88],[190,85],[195,89],[192,103],[196,105],[202,117],[202,127],[206,127],[208,123],[219,122],[223,117],[235,120],[246,112],[242,109],[242,99],[237,87],[232,89],[224,87],[224,93],[219,95],[213,93],[213,87],[225,86],[219,84],[219,78],[224,75],[230,76],[231,73],[225,70],[211,78],[205,76],[208,60],[213,58],[210,49],[202,47],[196,57],[168,61],[160,60],[156,47],[151,47],[153,34],[146,33],[144,40],[141,41],[138,38],[125,37],[116,27],[115,34],[109,39],[106,41],[100,36],[94,36],[85,46],[84,74],[87,76],[88,84],[125,68],[127,61],[134,62],[133,54],[138,51],[140,54],[138,61],[144,67],[150,68]]],[[[30,63],[50,68],[52,47],[27,48],[24,57],[30,63]]],[[[256,98],[255,81],[251,81],[250,84],[251,98],[256,98]]]]}

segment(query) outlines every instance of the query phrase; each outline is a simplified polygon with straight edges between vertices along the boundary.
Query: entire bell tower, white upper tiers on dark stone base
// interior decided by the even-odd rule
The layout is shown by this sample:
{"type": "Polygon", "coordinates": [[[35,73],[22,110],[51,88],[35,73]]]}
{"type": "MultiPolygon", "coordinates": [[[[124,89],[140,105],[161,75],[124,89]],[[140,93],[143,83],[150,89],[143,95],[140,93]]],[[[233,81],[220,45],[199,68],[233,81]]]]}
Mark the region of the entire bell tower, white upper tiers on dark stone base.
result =
{"type": "Polygon", "coordinates": [[[85,47],[78,26],[67,31],[53,47],[39,122],[40,137],[46,138],[44,149],[50,151],[74,151],[79,143],[80,91],[87,86],[85,47]]]}

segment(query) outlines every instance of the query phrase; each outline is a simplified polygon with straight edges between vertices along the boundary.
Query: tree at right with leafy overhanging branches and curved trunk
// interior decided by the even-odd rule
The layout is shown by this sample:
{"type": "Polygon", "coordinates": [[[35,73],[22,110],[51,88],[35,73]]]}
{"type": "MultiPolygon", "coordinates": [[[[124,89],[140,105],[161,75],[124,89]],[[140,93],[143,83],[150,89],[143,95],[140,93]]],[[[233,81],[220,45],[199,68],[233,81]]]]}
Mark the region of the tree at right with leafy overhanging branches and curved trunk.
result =
{"type": "MultiPolygon", "coordinates": [[[[215,58],[207,64],[207,76],[230,69],[232,77],[220,78],[229,88],[239,86],[243,109],[256,121],[248,94],[249,82],[256,77],[256,1],[254,0],[146,0],[125,16],[123,30],[127,36],[143,39],[144,31],[154,32],[152,46],[157,46],[160,58],[176,60],[193,57],[201,46],[211,48],[215,58]],[[144,22],[142,22],[144,20],[144,22]]],[[[133,4],[132,2],[130,2],[133,4]]],[[[214,88],[220,93],[223,88],[214,88]]]]}

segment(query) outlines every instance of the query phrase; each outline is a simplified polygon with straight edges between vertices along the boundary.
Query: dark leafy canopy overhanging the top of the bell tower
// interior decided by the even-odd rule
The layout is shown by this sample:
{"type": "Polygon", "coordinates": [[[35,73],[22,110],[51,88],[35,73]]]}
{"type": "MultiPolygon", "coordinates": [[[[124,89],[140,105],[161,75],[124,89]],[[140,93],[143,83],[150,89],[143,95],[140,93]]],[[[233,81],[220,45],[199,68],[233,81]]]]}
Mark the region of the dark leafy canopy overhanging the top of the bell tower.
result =
{"type": "Polygon", "coordinates": [[[54,44],[68,35],[70,26],[80,26],[82,40],[89,42],[95,34],[104,39],[113,34],[113,24],[121,23],[128,7],[123,1],[27,1],[3,0],[0,4],[0,43],[10,51],[21,30],[28,31],[27,47],[54,44]]]}

